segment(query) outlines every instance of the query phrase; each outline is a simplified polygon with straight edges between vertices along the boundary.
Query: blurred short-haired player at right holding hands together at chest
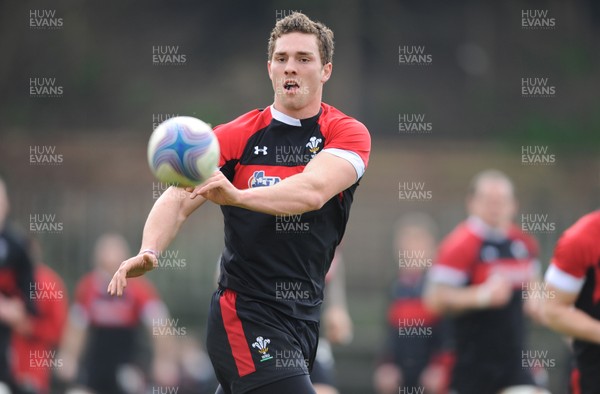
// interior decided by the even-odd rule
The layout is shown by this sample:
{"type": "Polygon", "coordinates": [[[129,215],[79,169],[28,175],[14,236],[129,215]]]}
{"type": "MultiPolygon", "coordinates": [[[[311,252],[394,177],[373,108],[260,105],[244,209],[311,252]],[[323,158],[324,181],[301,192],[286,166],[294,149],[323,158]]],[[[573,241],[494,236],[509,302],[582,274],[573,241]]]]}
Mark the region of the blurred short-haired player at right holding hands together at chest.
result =
{"type": "Polygon", "coordinates": [[[522,289],[537,277],[537,242],[513,223],[514,188],[500,171],[473,178],[467,211],[467,220],[441,243],[426,292],[433,311],[455,315],[451,387],[481,394],[533,385],[522,368],[522,289]]]}

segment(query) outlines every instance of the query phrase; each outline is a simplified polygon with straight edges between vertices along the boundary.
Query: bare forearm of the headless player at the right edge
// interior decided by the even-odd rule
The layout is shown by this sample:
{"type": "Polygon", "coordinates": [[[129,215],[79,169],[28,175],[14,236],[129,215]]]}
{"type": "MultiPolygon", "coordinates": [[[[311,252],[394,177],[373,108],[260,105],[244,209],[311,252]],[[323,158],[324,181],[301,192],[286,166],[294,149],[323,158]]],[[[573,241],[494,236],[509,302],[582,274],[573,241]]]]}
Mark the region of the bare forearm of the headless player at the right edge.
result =
{"type": "Polygon", "coordinates": [[[545,305],[545,323],[565,335],[600,344],[600,321],[567,305],[545,305]]]}

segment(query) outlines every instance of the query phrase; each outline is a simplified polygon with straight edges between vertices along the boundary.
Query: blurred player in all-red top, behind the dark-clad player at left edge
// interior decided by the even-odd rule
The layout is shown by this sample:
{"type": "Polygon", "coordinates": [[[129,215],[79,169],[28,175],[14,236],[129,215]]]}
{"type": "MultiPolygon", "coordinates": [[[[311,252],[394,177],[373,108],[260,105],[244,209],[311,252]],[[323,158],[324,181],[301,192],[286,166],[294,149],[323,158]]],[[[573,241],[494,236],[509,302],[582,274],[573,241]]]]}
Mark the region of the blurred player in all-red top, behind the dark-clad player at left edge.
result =
{"type": "Polygon", "coordinates": [[[29,297],[36,315],[12,337],[12,373],[20,393],[50,393],[52,371],[62,367],[56,348],[67,320],[68,297],[62,278],[43,263],[42,250],[35,238],[29,241],[34,262],[34,286],[29,297]]]}

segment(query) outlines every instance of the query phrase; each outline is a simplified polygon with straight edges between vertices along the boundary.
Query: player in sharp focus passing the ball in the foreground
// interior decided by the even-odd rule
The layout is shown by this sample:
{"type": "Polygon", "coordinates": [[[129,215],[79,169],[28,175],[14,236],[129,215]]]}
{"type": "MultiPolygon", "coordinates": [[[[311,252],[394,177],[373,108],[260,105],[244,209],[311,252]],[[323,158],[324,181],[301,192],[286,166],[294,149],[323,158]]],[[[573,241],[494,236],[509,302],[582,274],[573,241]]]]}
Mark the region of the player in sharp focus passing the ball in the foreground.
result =
{"type": "Polygon", "coordinates": [[[325,274],[367,166],[365,126],[323,103],[333,33],[306,15],[277,22],[267,69],[273,105],[218,126],[220,171],[163,193],[141,252],[108,288],[157,266],[159,252],[202,203],[221,205],[225,247],[211,302],[207,350],[218,393],[314,393],[308,376],[319,334],[325,274]]]}

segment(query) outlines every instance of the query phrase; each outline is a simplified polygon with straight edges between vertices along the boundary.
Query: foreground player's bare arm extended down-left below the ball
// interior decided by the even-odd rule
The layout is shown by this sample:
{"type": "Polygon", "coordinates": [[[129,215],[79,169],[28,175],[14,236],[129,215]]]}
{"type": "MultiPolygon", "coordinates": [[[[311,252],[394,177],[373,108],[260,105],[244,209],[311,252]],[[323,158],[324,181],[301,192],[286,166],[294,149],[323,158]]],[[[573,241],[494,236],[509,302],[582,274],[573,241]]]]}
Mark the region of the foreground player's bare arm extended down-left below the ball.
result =
{"type": "Polygon", "coordinates": [[[108,285],[109,294],[122,295],[127,278],[143,275],[158,266],[160,251],[169,246],[187,217],[206,201],[189,196],[184,189],[170,187],[156,200],[144,225],[140,253],[121,263],[108,285]]]}

